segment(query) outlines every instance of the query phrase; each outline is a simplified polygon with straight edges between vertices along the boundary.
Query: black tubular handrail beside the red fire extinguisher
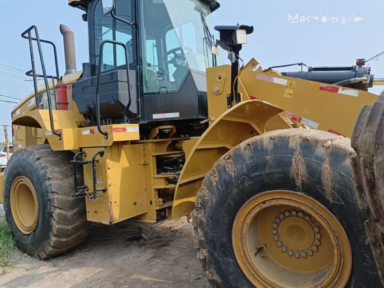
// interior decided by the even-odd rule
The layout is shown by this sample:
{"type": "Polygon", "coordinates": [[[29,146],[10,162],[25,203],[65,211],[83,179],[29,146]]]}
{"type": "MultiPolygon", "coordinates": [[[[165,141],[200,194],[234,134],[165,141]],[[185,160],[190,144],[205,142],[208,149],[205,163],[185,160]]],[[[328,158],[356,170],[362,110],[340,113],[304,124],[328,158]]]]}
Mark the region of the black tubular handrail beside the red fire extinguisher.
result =
{"type": "MultiPolygon", "coordinates": [[[[38,32],[38,29],[36,27],[36,25],[32,25],[30,28],[28,28],[27,30],[25,30],[23,33],[22,33],[22,37],[25,38],[25,39],[28,39],[29,40],[29,47],[30,47],[30,53],[31,53],[31,64],[32,64],[32,70],[28,71],[27,73],[25,73],[27,76],[33,76],[33,86],[35,88],[35,101],[36,101],[36,109],[39,109],[39,99],[38,99],[38,91],[37,91],[37,80],[36,80],[36,77],[38,75],[36,75],[36,68],[35,68],[35,58],[33,56],[33,44],[32,44],[32,40],[35,40],[37,42],[37,48],[39,50],[39,56],[40,56],[40,62],[41,62],[41,69],[43,70],[43,78],[44,78],[44,83],[45,83],[45,89],[46,89],[46,93],[47,93],[47,98],[48,98],[48,110],[49,110],[49,118],[50,118],[50,124],[51,124],[51,130],[52,130],[52,133],[55,134],[56,136],[58,136],[58,139],[61,140],[61,133],[56,131],[55,130],[55,127],[54,127],[54,124],[53,124],[53,116],[52,116],[52,103],[51,103],[51,94],[50,94],[50,89],[49,89],[49,85],[48,85],[48,78],[52,78],[53,79],[53,76],[47,76],[46,74],[46,70],[45,70],[45,64],[44,64],[44,58],[43,58],[43,51],[41,50],[41,42],[44,42],[44,43],[48,43],[48,44],[51,44],[53,46],[53,53],[55,55],[55,65],[56,65],[56,77],[59,78],[59,68],[58,68],[58,63],[57,63],[57,52],[56,52],[56,46],[53,42],[51,41],[48,41],[48,40],[43,40],[41,39],[40,40],[40,37],[39,37],[39,32],[38,32]],[[33,38],[32,35],[31,35],[31,31],[32,30],[35,30],[35,35],[36,35],[36,38],[33,38]],[[26,36],[26,34],[28,34],[28,36],[26,36]],[[32,73],[32,75],[30,75],[30,73],[32,73]]],[[[41,75],[39,75],[41,76],[41,75]]],[[[55,89],[55,88],[54,88],[55,89]]]]}

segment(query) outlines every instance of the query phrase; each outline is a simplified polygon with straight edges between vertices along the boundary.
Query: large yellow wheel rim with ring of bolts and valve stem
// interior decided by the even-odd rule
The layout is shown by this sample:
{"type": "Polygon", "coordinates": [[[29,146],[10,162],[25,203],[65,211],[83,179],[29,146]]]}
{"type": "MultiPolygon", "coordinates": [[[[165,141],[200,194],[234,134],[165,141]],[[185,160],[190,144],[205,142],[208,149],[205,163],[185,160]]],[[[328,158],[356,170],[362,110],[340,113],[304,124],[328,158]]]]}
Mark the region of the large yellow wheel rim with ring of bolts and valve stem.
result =
{"type": "Polygon", "coordinates": [[[316,200],[273,190],[238,211],[232,228],[237,262],[258,288],[344,288],[352,267],[348,237],[316,200]]]}

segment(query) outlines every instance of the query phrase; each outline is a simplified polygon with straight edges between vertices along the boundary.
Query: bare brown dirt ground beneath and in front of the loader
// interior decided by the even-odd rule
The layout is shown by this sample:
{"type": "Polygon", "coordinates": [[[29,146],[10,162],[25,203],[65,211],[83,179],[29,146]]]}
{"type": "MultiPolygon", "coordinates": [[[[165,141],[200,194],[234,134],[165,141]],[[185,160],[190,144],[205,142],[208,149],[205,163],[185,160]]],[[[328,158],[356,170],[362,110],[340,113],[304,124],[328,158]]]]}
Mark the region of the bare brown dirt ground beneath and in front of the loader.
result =
{"type": "Polygon", "coordinates": [[[0,287],[208,288],[192,232],[185,218],[156,225],[94,224],[86,242],[52,260],[15,251],[0,287]]]}

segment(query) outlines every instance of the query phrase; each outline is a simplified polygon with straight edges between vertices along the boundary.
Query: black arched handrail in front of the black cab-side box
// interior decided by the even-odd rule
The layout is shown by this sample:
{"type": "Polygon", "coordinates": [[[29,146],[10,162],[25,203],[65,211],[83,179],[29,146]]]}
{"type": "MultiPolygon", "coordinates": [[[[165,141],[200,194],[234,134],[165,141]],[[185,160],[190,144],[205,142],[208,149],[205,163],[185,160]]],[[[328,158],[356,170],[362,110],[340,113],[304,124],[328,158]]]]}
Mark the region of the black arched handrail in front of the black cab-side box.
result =
{"type": "Polygon", "coordinates": [[[99,66],[98,66],[98,73],[97,73],[97,80],[96,80],[96,120],[97,120],[97,129],[101,134],[104,135],[104,139],[108,139],[108,132],[101,130],[101,123],[100,123],[100,101],[99,101],[99,91],[100,91],[100,81],[101,81],[101,65],[103,65],[103,49],[104,44],[111,43],[114,45],[120,45],[124,48],[125,51],[125,63],[127,66],[127,84],[128,84],[128,104],[124,110],[123,114],[123,124],[128,123],[127,114],[129,111],[129,107],[132,103],[132,96],[131,96],[131,81],[129,79],[129,53],[127,45],[125,45],[122,42],[114,41],[114,40],[104,40],[100,44],[100,51],[99,51],[99,66]]]}

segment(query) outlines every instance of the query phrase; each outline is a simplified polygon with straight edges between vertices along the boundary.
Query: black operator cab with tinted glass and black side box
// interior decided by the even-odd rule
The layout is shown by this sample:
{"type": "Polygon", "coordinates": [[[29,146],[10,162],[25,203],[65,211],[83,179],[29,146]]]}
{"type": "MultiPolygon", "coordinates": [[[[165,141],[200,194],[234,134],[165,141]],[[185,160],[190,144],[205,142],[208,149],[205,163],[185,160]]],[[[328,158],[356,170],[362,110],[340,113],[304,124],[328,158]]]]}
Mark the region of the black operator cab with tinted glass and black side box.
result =
{"type": "MultiPolygon", "coordinates": [[[[208,118],[205,70],[223,64],[223,58],[212,53],[217,37],[212,12],[220,7],[215,0],[85,3],[70,2],[87,11],[84,19],[89,27],[89,63],[84,63],[83,78],[73,83],[72,91],[80,113],[94,121],[100,45],[114,40],[126,45],[129,54],[130,122],[189,124],[208,118]]],[[[99,98],[104,122],[122,122],[128,103],[124,51],[106,43],[101,55],[99,98]]]]}

